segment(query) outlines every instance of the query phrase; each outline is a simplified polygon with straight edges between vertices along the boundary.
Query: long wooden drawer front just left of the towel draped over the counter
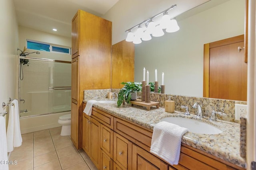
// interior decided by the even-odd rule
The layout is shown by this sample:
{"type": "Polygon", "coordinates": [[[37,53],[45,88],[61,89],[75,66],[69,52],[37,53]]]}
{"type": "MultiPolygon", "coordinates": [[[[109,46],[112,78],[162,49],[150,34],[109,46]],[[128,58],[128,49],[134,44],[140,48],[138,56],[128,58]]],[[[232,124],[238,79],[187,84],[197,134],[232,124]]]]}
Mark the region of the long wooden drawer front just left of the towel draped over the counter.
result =
{"type": "Polygon", "coordinates": [[[146,150],[151,146],[152,132],[133,125],[132,123],[114,118],[114,131],[146,150]]]}

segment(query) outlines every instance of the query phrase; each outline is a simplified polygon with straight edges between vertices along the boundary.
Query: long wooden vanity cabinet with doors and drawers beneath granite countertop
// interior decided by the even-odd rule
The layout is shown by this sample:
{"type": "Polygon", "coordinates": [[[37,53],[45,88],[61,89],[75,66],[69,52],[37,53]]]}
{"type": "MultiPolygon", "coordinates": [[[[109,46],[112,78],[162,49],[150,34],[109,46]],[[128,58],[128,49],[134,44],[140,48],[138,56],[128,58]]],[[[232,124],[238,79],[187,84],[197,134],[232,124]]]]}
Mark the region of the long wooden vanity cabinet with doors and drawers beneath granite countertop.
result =
{"type": "MultiPolygon", "coordinates": [[[[83,108],[85,107],[85,104],[83,108]]],[[[89,149],[83,147],[93,161],[91,152],[99,153],[100,170],[141,170],[141,169],[160,169],[160,170],[186,170],[186,169],[220,169],[231,170],[240,169],[239,166],[226,162],[220,158],[212,156],[206,152],[182,144],[180,160],[178,165],[170,165],[162,158],[150,153],[152,130],[142,127],[134,122],[128,121],[116,115],[112,115],[95,107],[92,108],[92,115],[85,113],[83,119],[83,146],[86,143],[89,149]],[[93,131],[87,125],[89,119],[98,121],[100,131],[93,131]],[[90,133],[99,133],[99,137],[93,143],[99,143],[98,147],[92,146],[92,137],[87,137],[90,133]],[[97,141],[98,140],[98,141],[97,141]],[[84,144],[85,143],[85,144],[84,144]],[[91,147],[91,148],[90,148],[91,147]]],[[[90,136],[90,135],[89,135],[90,136]]]]}

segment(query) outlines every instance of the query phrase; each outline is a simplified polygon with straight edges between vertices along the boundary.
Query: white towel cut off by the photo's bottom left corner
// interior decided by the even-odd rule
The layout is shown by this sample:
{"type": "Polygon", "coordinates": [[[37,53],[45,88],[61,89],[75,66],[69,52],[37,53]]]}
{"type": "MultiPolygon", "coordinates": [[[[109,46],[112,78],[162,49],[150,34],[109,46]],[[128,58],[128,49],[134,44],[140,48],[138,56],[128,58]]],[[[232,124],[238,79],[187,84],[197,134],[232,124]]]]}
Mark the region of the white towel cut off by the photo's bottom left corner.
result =
{"type": "Polygon", "coordinates": [[[5,118],[0,116],[0,170],[8,170],[8,153],[7,153],[7,142],[6,142],[6,128],[5,118]],[[6,162],[4,162],[6,161],[6,162]]]}

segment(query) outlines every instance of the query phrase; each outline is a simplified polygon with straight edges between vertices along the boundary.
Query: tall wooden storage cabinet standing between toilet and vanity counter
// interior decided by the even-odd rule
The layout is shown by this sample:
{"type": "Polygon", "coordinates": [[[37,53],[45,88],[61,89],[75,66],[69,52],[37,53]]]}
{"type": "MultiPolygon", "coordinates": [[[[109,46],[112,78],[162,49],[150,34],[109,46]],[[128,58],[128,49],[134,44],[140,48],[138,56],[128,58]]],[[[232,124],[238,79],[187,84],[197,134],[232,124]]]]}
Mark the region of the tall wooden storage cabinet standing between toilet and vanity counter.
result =
{"type": "Polygon", "coordinates": [[[78,10],[72,20],[71,140],[82,147],[84,90],[110,88],[112,22],[78,10]]]}

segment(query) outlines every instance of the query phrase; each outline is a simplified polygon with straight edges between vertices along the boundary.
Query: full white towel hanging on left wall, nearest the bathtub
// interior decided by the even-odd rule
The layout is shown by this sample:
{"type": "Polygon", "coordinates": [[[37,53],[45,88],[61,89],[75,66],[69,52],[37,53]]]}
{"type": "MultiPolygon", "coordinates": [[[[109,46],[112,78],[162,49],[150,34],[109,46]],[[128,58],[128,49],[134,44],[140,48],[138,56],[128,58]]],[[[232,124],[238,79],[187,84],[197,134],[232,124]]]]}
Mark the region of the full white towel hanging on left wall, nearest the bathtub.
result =
{"type": "Polygon", "coordinates": [[[21,144],[22,137],[20,133],[19,106],[18,101],[15,99],[9,105],[9,121],[7,127],[7,151],[11,152],[14,147],[19,147],[21,144]]]}

